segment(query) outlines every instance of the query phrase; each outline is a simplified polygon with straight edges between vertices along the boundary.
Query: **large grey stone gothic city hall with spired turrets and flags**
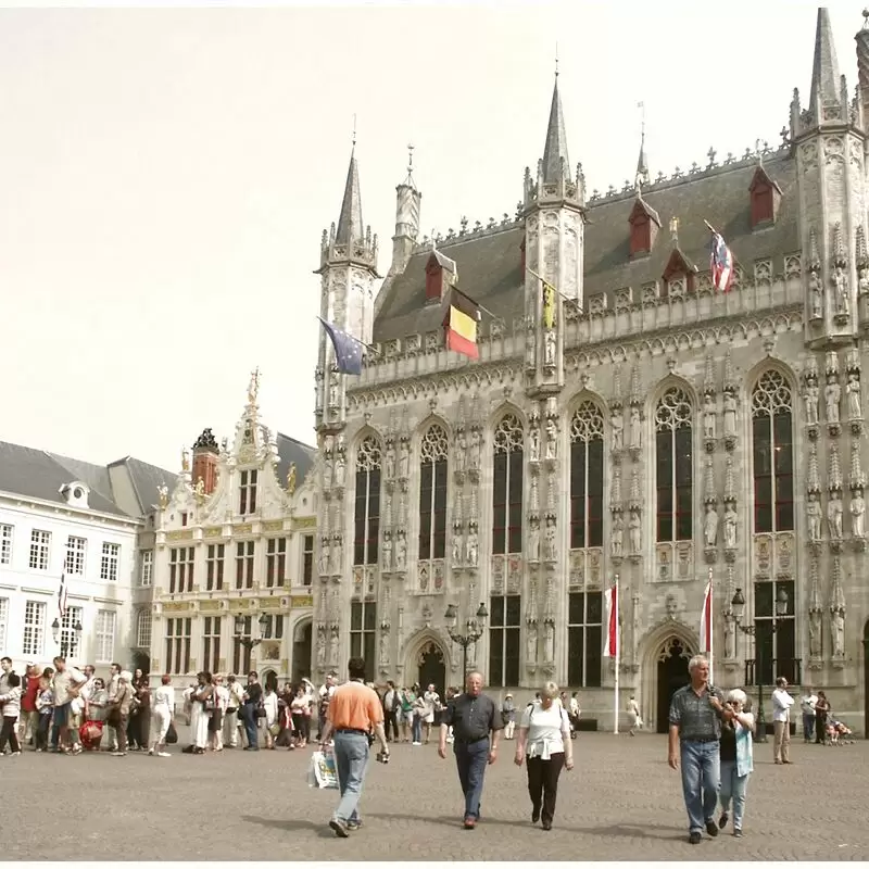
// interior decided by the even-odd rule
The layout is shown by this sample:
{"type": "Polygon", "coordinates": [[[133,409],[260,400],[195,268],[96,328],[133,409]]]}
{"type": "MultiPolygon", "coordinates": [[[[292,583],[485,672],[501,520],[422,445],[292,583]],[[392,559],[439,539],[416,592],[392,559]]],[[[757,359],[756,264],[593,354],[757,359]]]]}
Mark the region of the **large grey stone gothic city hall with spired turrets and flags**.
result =
{"type": "Polygon", "coordinates": [[[869,29],[856,89],[833,42],[821,9],[778,147],[665,176],[641,142],[606,192],[568,158],[556,75],[515,211],[424,237],[412,161],[385,275],[354,151],[317,272],[364,353],[345,373],[323,329],[319,677],[362,654],[378,683],[554,680],[600,729],[618,678],[663,731],[710,583],[716,684],[783,676],[865,728],[869,29]]]}

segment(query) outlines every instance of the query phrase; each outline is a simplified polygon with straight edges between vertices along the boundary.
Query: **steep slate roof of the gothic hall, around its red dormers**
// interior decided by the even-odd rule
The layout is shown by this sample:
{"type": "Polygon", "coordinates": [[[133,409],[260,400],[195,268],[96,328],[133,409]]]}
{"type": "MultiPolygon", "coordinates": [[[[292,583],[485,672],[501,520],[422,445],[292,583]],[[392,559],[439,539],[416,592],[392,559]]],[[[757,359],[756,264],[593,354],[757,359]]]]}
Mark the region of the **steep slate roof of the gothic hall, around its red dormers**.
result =
{"type": "MultiPolygon", "coordinates": [[[[757,169],[755,161],[713,168],[688,175],[676,181],[655,184],[643,193],[646,204],[660,217],[660,230],[648,256],[631,262],[628,217],[635,202],[634,193],[613,196],[588,204],[584,242],[584,294],[590,298],[619,289],[639,288],[660,280],[672,252],[669,231],[671,217],[679,219],[679,248],[700,272],[708,270],[708,221],[721,232],[733,251],[736,263],[748,274],[755,260],[778,257],[802,248],[797,225],[796,165],[790,154],[768,156],[764,168],[782,191],[776,224],[752,231],[748,187],[757,169]]],[[[467,238],[442,240],[443,254],[455,261],[458,289],[488,307],[507,324],[524,313],[519,244],[525,228],[513,224],[505,228],[475,232],[467,238]]],[[[418,250],[403,274],[383,284],[382,304],[374,326],[375,341],[404,339],[440,328],[439,303],[426,303],[425,266],[430,250],[418,250]]],[[[488,317],[483,317],[487,330],[488,317]]]]}

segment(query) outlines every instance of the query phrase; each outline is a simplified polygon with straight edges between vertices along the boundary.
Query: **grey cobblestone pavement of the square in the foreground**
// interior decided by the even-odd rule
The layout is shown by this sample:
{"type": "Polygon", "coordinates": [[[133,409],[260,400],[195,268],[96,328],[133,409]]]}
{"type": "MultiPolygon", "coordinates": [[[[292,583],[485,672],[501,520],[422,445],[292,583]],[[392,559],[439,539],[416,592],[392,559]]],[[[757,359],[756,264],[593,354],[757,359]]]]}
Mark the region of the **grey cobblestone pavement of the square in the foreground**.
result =
{"type": "Polygon", "coordinates": [[[25,752],[0,761],[3,826],[16,831],[4,859],[869,858],[869,742],[795,742],[793,766],[779,767],[771,743],[755,746],[745,837],[722,833],[701,846],[687,843],[680,779],[666,765],[664,736],[582,733],[574,745],[577,768],[562,777],[551,832],[530,826],[514,743],[489,768],[473,832],[459,826],[452,756],[441,760],[433,744],[398,745],[389,766],[371,763],[364,826],[350,840],[327,827],[337,792],[305,784],[307,752],[25,752]]]}

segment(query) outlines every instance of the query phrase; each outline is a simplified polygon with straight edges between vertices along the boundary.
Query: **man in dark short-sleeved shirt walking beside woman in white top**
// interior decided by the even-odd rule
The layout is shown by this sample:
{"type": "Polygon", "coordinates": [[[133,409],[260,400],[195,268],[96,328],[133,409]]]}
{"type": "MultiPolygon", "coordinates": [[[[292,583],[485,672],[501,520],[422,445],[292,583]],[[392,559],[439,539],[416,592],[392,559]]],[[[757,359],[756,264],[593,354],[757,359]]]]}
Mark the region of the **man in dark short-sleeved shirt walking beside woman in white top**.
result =
{"type": "Polygon", "coordinates": [[[482,676],[469,672],[465,693],[453,697],[441,718],[438,754],[446,757],[446,734],[453,728],[453,754],[465,795],[465,829],[473,830],[480,819],[480,798],[486,765],[498,759],[498,741],[504,723],[498,706],[482,693],[482,676]],[[489,734],[491,743],[489,741],[489,734]]]}

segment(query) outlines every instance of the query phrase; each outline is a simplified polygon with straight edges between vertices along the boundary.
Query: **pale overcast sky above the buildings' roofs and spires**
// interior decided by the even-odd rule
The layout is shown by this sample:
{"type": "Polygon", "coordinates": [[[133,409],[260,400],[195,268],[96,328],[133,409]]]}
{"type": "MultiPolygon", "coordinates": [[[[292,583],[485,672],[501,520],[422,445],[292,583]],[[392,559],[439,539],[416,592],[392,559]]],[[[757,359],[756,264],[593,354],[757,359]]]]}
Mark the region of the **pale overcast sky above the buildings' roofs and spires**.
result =
{"type": "MultiPolygon", "coordinates": [[[[232,434],[256,366],[266,425],[315,442],[313,272],[354,116],[385,274],[408,143],[423,234],[515,213],[556,46],[570,161],[603,191],[633,178],[640,101],[653,177],[710,146],[777,147],[793,88],[808,100],[817,16],[802,0],[67,4],[0,10],[0,440],[168,470],[204,427],[232,434]]],[[[853,90],[861,7],[828,5],[853,90]]]]}

